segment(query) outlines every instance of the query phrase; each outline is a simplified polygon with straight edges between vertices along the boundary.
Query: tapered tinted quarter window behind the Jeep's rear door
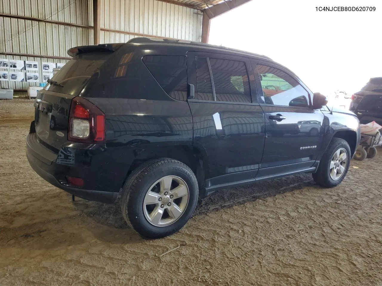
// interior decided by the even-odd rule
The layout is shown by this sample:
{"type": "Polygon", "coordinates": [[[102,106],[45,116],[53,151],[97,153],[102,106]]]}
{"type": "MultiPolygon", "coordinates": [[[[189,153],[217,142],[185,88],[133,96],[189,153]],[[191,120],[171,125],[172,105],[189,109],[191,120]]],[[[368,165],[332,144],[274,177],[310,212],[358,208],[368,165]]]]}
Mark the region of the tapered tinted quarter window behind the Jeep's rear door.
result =
{"type": "Polygon", "coordinates": [[[168,95],[177,100],[187,99],[185,56],[145,56],[143,62],[168,95]]]}

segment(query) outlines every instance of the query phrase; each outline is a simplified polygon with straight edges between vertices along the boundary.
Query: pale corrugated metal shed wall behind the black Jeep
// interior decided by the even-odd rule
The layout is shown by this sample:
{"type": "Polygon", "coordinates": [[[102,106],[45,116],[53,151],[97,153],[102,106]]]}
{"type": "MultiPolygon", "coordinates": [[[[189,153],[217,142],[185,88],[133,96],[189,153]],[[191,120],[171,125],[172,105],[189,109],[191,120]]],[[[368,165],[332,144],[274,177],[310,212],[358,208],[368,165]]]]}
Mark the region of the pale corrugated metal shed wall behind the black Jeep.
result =
{"type": "MultiPolygon", "coordinates": [[[[2,0],[0,13],[48,19],[71,24],[93,25],[92,0],[2,0]]],[[[202,13],[157,0],[101,0],[101,28],[200,41],[202,13]]],[[[0,55],[0,58],[65,63],[68,48],[93,44],[93,30],[62,24],[0,16],[0,52],[44,55],[46,58],[0,55]]],[[[136,35],[101,31],[101,43],[127,42],[136,35]]],[[[0,69],[0,71],[6,69],[0,69]]],[[[11,70],[12,71],[12,70],[11,70]]],[[[17,71],[17,70],[16,70],[17,71]]],[[[26,89],[28,82],[0,81],[1,88],[26,89]]]]}

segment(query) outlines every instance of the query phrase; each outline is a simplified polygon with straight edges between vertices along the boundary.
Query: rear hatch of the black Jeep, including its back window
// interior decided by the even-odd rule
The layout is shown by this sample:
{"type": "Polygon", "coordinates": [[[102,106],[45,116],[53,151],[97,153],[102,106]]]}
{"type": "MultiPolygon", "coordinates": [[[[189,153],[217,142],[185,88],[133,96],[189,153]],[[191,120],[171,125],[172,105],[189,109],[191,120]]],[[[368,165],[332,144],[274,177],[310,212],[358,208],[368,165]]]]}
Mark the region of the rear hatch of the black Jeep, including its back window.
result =
{"type": "Polygon", "coordinates": [[[112,55],[99,46],[72,48],[73,58],[39,92],[35,101],[35,128],[41,144],[58,153],[68,141],[70,105],[92,76],[112,55]],[[81,50],[82,49],[82,50],[81,50]]]}

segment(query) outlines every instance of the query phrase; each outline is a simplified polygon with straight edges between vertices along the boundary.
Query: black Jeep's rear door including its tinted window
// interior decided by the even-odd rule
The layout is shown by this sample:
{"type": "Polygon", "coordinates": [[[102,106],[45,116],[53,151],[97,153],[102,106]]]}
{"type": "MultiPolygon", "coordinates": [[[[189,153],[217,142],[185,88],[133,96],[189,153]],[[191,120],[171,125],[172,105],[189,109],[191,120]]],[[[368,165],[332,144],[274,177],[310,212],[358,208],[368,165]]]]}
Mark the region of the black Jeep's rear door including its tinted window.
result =
{"type": "Polygon", "coordinates": [[[187,53],[194,145],[207,156],[207,191],[253,180],[264,148],[264,115],[247,58],[187,53]]]}

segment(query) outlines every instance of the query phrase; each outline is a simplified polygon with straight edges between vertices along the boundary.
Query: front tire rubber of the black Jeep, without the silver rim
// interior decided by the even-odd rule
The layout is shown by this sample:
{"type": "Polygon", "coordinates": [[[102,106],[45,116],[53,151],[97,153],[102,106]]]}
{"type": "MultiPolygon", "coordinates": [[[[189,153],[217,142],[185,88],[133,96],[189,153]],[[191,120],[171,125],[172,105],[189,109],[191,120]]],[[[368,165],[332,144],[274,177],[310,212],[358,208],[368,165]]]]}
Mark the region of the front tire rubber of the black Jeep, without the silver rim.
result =
{"type": "Polygon", "coordinates": [[[349,165],[350,165],[350,147],[348,142],[341,138],[333,138],[332,141],[330,141],[328,148],[326,149],[325,154],[322,156],[320,164],[317,168],[316,173],[313,173],[313,180],[318,185],[326,187],[326,188],[332,188],[334,186],[337,186],[342,182],[342,180],[346,177],[346,173],[348,172],[349,165]],[[330,161],[332,160],[332,157],[334,153],[340,149],[343,148],[346,151],[347,155],[347,165],[345,167],[345,171],[343,172],[342,177],[340,177],[338,180],[333,180],[330,177],[330,161]]]}

